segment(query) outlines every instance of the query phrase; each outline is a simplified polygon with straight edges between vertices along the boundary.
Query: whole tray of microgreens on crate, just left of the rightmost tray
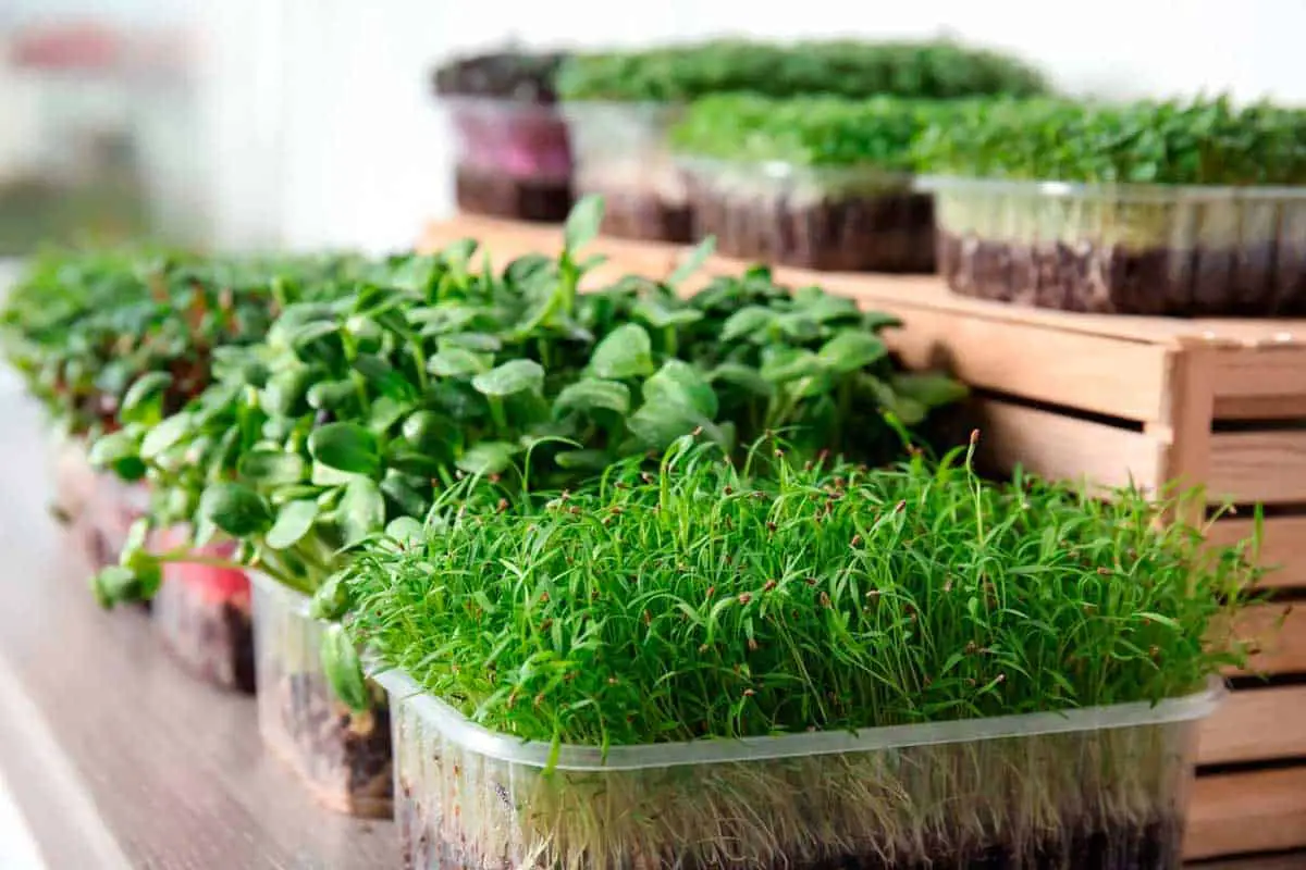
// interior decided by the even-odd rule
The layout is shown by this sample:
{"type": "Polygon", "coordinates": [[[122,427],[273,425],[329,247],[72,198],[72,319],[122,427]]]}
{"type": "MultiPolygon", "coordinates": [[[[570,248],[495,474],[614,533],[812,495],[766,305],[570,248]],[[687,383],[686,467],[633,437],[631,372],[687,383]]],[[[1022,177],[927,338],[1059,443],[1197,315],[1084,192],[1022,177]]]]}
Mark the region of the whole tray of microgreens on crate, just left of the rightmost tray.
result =
{"type": "Polygon", "coordinates": [[[910,172],[927,117],[892,98],[699,100],[673,132],[696,235],[786,266],[932,273],[934,203],[910,172]]]}

